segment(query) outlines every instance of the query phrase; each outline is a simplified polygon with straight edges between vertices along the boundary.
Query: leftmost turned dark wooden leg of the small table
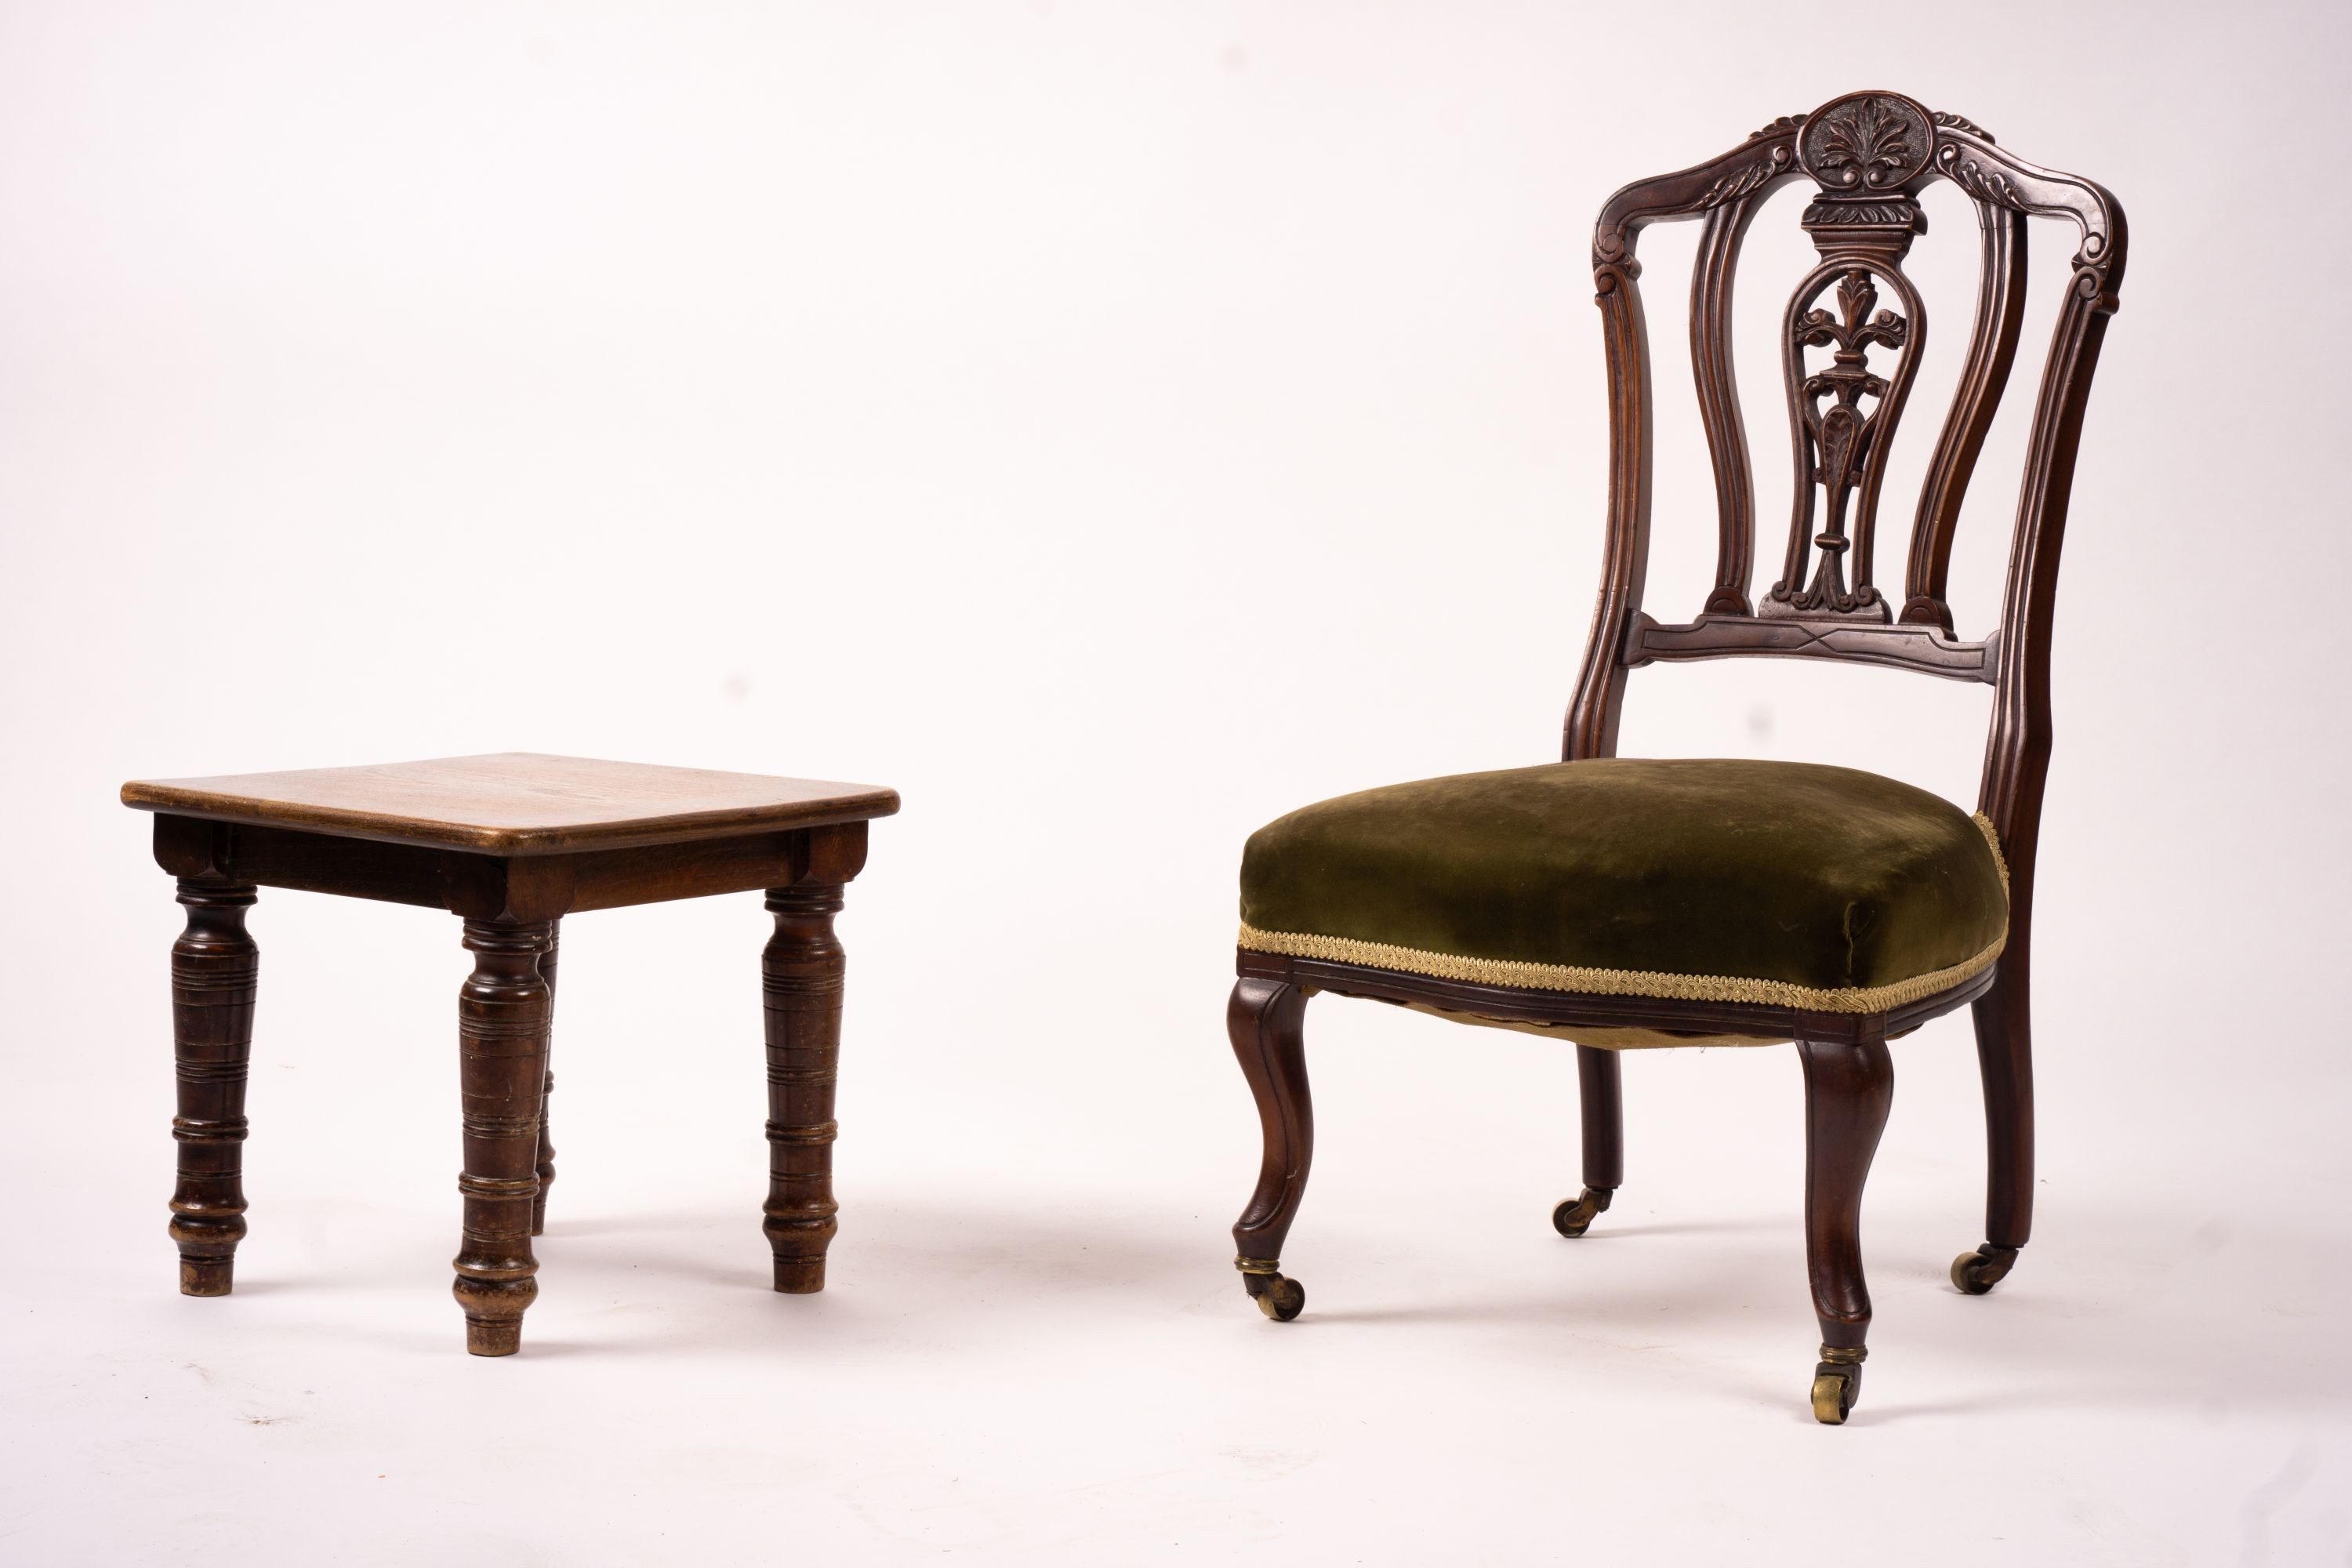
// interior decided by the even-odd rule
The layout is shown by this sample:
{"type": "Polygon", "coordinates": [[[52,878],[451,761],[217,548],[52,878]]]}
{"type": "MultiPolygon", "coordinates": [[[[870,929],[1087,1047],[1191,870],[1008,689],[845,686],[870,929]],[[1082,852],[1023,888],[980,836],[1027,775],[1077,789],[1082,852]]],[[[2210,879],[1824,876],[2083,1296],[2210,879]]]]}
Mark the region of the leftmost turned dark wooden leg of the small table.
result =
{"type": "Polygon", "coordinates": [[[228,1295],[245,1239],[245,1079],[261,980],[261,950],[245,933],[254,884],[181,877],[179,903],[188,926],[172,943],[172,1241],[181,1295],[228,1295]]]}

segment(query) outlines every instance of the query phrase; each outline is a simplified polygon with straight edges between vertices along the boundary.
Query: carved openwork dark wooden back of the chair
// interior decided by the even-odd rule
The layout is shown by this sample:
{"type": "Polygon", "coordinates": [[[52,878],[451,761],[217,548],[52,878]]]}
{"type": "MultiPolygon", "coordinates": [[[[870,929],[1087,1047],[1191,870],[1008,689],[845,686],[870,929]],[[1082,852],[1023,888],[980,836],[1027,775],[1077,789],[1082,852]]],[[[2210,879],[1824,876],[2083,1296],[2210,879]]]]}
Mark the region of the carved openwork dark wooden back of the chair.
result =
{"type": "Polygon", "coordinates": [[[2049,773],[2049,642],[2074,449],[2107,317],[2124,280],[2124,209],[2105,188],[1994,146],[1959,115],[1891,92],[1856,92],[1773,120],[1679,174],[1625,186],[1592,228],[1592,287],[1609,353],[1609,543],[1599,609],[1569,708],[1564,757],[1616,752],[1625,672],[1658,661],[1778,654],[1896,665],[1994,689],[1978,809],[2011,865],[2013,938],[2030,910],[2042,785],[2049,773]],[[1778,576],[1757,599],[1755,480],[1731,369],[1731,287],[1764,200],[1811,179],[1799,219],[1820,263],[1780,320],[1795,444],[1795,505],[1778,576]],[[1903,273],[1926,230],[1919,190],[1947,179],[1976,205],[1983,273],[1952,407],[1912,520],[1900,607],[1877,585],[1872,543],[1886,454],[1903,418],[1926,303],[1903,273]],[[2009,383],[2025,315],[2025,221],[2067,219],[2074,275],[2058,310],[2025,447],[2002,621],[1983,642],[1952,637],[1945,574],[1976,458],[2009,383]],[[1649,567],[1651,383],[1635,242],[1649,223],[1700,219],[1691,266],[1691,369],[1715,463],[1719,550],[1698,618],[1642,614],[1649,567]]]}

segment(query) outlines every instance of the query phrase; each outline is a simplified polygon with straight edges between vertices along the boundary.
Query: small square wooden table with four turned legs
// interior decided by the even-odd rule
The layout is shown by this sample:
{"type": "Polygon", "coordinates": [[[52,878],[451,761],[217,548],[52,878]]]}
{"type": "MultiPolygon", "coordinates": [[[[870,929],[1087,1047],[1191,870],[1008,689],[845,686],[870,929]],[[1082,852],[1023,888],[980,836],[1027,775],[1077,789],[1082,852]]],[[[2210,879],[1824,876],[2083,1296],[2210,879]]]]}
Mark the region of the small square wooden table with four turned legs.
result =
{"type": "Polygon", "coordinates": [[[449,910],[473,973],[456,999],[466,1128],[456,1300],[466,1349],[508,1356],[539,1295],[532,1237],[555,1180],[548,1030],[557,922],[666,898],[767,889],[767,1232],[776,1288],[826,1286],[835,1232],[833,1081],[842,945],[833,917],[866,865],[866,823],[898,811],[875,785],[706,773],[586,757],[442,757],[362,769],[141,778],[155,863],[179,877],[172,943],[179,1060],[179,1288],[228,1295],[245,1237],[245,1070],[259,952],[256,886],[449,910]]]}

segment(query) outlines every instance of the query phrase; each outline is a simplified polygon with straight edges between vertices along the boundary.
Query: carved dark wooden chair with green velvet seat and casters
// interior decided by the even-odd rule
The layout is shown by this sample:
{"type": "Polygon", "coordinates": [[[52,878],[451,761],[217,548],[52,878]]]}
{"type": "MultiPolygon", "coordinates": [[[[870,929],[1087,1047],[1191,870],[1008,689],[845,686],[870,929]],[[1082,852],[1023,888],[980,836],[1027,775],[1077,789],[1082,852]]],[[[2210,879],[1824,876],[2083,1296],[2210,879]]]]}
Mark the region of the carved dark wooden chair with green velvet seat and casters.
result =
{"type": "Polygon", "coordinates": [[[2107,190],[1889,92],[1773,120],[1722,158],[1609,197],[1592,230],[1609,353],[1609,545],[1564,762],[1329,799],[1261,827],[1242,856],[1242,978],[1228,1027],[1265,1124],[1265,1164],[1232,1237],[1242,1284],[1268,1316],[1289,1321],[1305,1305],[1282,1274],[1282,1241],[1315,1143],[1301,1041],[1315,992],[1576,1041],[1585,1185],[1552,1213],[1562,1237],[1583,1237],[1623,1180],[1618,1051],[1795,1041],[1820,1319],[1811,1396],[1832,1425],[1853,1408],[1867,1354],[1858,1218],[1893,1093],[1886,1041],[1973,1006],[1990,1180],[1985,1241],[1959,1255],[1952,1284],[1983,1295],[2009,1274],[2034,1194],[2027,971],[2051,602],[2084,402],[2122,277],[2124,212],[2107,190]],[[1797,179],[1818,186],[1802,223],[1820,252],[1780,322],[1797,496],[1780,574],[1752,599],[1755,487],[1731,374],[1731,284],[1757,209],[1797,179]],[[1976,205],[1983,275],[1898,604],[1872,583],[1872,536],[1926,341],[1903,256],[1926,230],[1917,195],[1936,179],[1976,205]],[[1966,642],[1952,635],[1945,571],[2016,357],[2034,216],[2067,219],[2079,247],[2034,400],[1999,630],[1966,642]],[[1635,261],[1642,228],[1670,219],[1703,223],[1691,362],[1722,536],[1715,590],[1677,625],[1642,611],[1651,395],[1635,261]],[[1990,684],[1973,818],[1853,769],[1616,757],[1628,670],[1740,654],[1990,684]]]}

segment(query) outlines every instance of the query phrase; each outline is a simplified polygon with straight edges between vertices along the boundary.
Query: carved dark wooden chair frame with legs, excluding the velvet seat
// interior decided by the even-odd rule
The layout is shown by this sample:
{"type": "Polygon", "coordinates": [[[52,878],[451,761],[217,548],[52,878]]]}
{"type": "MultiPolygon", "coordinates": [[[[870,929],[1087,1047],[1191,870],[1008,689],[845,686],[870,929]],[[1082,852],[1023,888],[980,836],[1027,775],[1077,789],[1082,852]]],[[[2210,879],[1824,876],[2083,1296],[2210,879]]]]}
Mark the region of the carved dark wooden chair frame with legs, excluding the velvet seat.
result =
{"type": "MultiPolygon", "coordinates": [[[[1994,825],[2009,860],[2011,907],[2009,945],[1994,969],[1893,1013],[1823,1016],[1479,987],[1247,950],[1235,959],[1244,987],[1256,985],[1249,992],[1251,1020],[1270,1016],[1265,1009],[1275,997],[1329,990],[1515,1023],[1797,1039],[1811,1107],[1809,1255],[1825,1345],[1816,1371],[1842,1389],[1825,1403],[1825,1385],[1816,1380],[1823,1420],[1844,1420],[1865,1354],[1870,1305],[1853,1215],[1891,1091],[1884,1046],[1891,1034],[1957,1006],[1976,1009],[1987,1126],[1985,1251],[1955,1262],[1959,1288],[1992,1288],[2013,1267],[2016,1248],[2032,1227],[2027,973],[2051,750],[2051,607],[2082,418],[2107,317],[2117,308],[2124,252],[2124,212],[2103,186],[2030,165],[1966,118],[1931,113],[1891,92],[1846,94],[1811,115],[1783,115],[1719,158],[1635,181],[1602,205],[1592,228],[1592,292],[1609,376],[1609,512],[1599,602],[1559,755],[1566,762],[1613,757],[1628,672],[1651,663],[1837,658],[1985,682],[1994,698],[1978,811],[1994,825]],[[1755,482],[1731,364],[1731,301],[1743,240],[1762,205],[1799,179],[1813,183],[1799,223],[1820,261],[1797,282],[1780,322],[1797,494],[1778,578],[1750,602],[1755,482]],[[1959,383],[1915,510],[1898,616],[1872,581],[1877,512],[1903,402],[1926,348],[1926,301],[1903,273],[1903,261],[1915,237],[1926,233],[1917,197],[1938,179],[1952,181],[1973,202],[1980,275],[1959,383]],[[1698,614],[1686,623],[1661,623],[1644,611],[1653,409],[1637,244],[1646,226],[1682,219],[1703,221],[1689,339],[1715,468],[1719,545],[1715,585],[1698,614]],[[1999,618],[1983,639],[1969,642],[1952,630],[1947,571],[1962,503],[2016,362],[2030,219],[2072,226],[2074,270],[2034,393],[1999,618]]],[[[1244,1046],[1242,994],[1235,992],[1232,1013],[1237,1048],[1244,1046]]],[[[1289,1018],[1287,1034],[1251,1023],[1247,1039],[1287,1039],[1279,1051],[1296,1053],[1296,1018],[1289,1018]]],[[[1294,1133],[1287,1098],[1263,1086],[1270,1081],[1268,1063],[1287,1063],[1284,1081],[1296,1079],[1301,1105],[1305,1070],[1268,1051],[1277,1046],[1251,1044],[1244,1070],[1258,1093],[1265,1171],[1272,1173],[1291,1168],[1284,1161],[1294,1133]]],[[[1562,1206],[1576,1208],[1571,1222],[1555,1215],[1564,1234],[1583,1234],[1597,1213],[1595,1194],[1606,1206],[1623,1168],[1616,1060],[1606,1058],[1609,1070],[1588,1067],[1599,1060],[1597,1051],[1578,1051],[1588,1197],[1583,1206],[1562,1206]]],[[[1298,1171],[1303,1180],[1303,1164],[1298,1171]]],[[[1261,1178],[1244,1222],[1258,1222],[1256,1215],[1268,1208],[1268,1180],[1261,1178]]],[[[1287,1225],[1289,1208],[1282,1208],[1275,1244],[1287,1225]]],[[[1296,1288],[1296,1281],[1287,1284],[1296,1288]]],[[[1261,1295],[1261,1284],[1251,1281],[1249,1291],[1261,1295]]]]}

